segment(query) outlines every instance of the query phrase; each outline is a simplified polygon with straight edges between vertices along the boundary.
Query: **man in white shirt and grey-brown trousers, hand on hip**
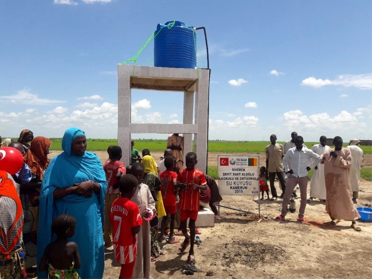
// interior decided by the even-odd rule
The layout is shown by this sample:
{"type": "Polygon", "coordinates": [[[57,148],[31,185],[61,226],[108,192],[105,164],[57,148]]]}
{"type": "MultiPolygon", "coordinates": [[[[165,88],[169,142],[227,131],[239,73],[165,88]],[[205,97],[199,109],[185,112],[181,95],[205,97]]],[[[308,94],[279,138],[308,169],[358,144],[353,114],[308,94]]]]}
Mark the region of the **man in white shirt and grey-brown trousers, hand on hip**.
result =
{"type": "Polygon", "coordinates": [[[287,214],[287,206],[293,189],[296,187],[297,183],[300,188],[301,193],[301,204],[298,211],[298,221],[303,223],[305,208],[307,204],[307,183],[309,181],[308,171],[314,169],[317,164],[320,163],[322,158],[315,154],[312,150],[304,146],[304,138],[297,136],[295,138],[296,147],[291,148],[283,157],[283,166],[286,174],[288,175],[288,183],[286,185],[286,191],[284,193],[282,214],[280,214],[275,219],[282,221],[287,214]],[[314,159],[314,162],[308,166],[308,164],[314,159]],[[288,160],[291,160],[291,169],[288,167],[288,160]]]}

